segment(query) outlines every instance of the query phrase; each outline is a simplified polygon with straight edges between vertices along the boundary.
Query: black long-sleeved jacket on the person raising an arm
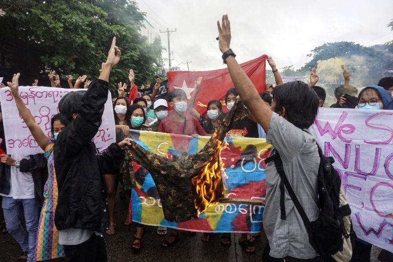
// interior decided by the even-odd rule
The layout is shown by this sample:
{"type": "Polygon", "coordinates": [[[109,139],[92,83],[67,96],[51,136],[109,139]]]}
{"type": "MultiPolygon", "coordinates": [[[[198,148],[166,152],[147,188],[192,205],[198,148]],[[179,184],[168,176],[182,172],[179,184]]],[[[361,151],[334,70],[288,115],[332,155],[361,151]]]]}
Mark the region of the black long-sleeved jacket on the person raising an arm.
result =
{"type": "Polygon", "coordinates": [[[78,117],[58,135],[54,147],[59,196],[57,229],[82,228],[103,232],[107,221],[106,190],[102,176],[118,172],[124,151],[112,144],[98,155],[92,141],[101,124],[108,83],[94,82],[82,98],[78,117]]]}

